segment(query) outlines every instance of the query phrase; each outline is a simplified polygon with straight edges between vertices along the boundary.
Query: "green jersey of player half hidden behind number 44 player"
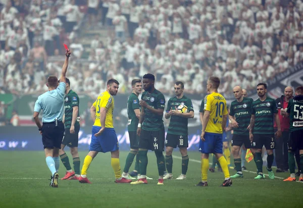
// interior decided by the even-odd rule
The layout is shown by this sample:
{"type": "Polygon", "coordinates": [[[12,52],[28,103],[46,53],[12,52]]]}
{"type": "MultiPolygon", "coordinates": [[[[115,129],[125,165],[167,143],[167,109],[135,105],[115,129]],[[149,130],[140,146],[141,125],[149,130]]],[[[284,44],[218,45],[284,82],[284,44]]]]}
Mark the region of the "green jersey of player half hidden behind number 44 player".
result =
{"type": "Polygon", "coordinates": [[[127,100],[127,130],[128,131],[137,131],[139,119],[136,117],[135,111],[136,109],[140,109],[139,99],[135,93],[131,93],[127,100]]]}

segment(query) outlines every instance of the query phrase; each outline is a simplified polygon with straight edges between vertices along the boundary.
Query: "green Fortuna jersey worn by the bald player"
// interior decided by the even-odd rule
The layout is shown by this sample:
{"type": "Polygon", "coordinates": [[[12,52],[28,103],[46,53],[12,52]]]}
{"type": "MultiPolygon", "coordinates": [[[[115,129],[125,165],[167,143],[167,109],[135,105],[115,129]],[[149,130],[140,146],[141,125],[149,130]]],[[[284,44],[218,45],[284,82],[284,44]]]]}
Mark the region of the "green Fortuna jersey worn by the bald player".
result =
{"type": "Polygon", "coordinates": [[[239,126],[238,128],[233,128],[234,134],[248,135],[249,129],[247,127],[250,123],[252,102],[254,100],[247,97],[243,97],[241,102],[237,100],[231,102],[229,115],[235,117],[239,126]]]}

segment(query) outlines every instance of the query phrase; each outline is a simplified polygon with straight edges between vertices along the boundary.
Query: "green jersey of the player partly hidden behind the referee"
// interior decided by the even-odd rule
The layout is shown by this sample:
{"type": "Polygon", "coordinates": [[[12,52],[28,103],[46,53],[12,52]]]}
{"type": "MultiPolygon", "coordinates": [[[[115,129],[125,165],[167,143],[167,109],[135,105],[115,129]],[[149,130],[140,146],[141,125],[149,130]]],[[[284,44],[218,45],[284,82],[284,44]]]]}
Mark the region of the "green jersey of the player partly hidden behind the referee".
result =
{"type": "MultiPolygon", "coordinates": [[[[71,128],[73,118],[73,107],[78,106],[79,109],[79,97],[76,92],[70,90],[64,97],[64,108],[65,108],[65,128],[71,128]]],[[[75,126],[80,125],[79,110],[76,118],[75,126]]]]}

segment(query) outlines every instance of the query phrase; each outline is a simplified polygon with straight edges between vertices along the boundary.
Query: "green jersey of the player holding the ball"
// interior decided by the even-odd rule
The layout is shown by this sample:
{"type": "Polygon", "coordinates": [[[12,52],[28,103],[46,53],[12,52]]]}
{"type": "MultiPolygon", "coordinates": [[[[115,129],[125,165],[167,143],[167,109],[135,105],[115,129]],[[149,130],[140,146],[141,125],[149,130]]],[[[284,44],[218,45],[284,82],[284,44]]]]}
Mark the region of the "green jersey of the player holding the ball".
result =
{"type": "MultiPolygon", "coordinates": [[[[188,108],[188,112],[193,111],[191,99],[183,95],[182,98],[172,97],[167,102],[166,113],[168,113],[171,109],[175,110],[178,106],[184,105],[188,108]]],[[[171,116],[169,127],[167,130],[168,134],[175,135],[188,135],[188,118],[184,118],[181,116],[171,116]]]]}

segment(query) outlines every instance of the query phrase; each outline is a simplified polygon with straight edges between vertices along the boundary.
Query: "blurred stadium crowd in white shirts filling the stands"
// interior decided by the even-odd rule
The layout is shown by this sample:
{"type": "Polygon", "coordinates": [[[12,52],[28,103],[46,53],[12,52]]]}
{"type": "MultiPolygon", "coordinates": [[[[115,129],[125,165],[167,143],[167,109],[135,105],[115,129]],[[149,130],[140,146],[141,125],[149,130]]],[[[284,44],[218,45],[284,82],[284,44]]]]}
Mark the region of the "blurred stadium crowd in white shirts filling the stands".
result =
{"type": "MultiPolygon", "coordinates": [[[[78,94],[95,99],[106,81],[156,75],[156,88],[173,95],[254,89],[303,59],[303,4],[288,0],[0,0],[0,94],[41,94],[59,75],[63,43],[73,50],[68,78],[78,94]],[[83,31],[100,29],[85,50],[83,31]]],[[[6,114],[0,102],[0,118],[6,114]]],[[[13,112],[13,116],[16,112],[13,112]]],[[[1,119],[0,123],[5,124],[1,119]]]]}

